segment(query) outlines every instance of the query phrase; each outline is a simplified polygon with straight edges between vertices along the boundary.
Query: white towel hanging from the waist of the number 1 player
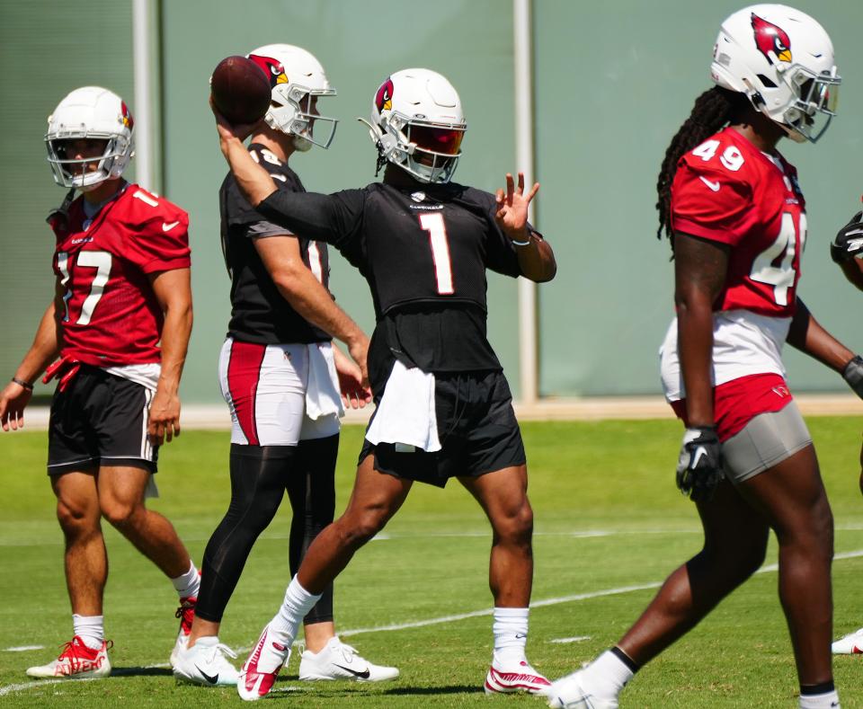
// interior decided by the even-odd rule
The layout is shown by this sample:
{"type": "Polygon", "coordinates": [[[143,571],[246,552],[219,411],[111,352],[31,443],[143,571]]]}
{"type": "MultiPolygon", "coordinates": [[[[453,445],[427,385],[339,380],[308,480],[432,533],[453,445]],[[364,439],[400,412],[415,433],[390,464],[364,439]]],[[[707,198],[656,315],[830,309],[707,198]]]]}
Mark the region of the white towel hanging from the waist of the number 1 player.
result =
{"type": "Polygon", "coordinates": [[[440,450],[434,375],[416,367],[408,369],[396,359],[366,439],[376,446],[395,443],[429,453],[440,450]]]}

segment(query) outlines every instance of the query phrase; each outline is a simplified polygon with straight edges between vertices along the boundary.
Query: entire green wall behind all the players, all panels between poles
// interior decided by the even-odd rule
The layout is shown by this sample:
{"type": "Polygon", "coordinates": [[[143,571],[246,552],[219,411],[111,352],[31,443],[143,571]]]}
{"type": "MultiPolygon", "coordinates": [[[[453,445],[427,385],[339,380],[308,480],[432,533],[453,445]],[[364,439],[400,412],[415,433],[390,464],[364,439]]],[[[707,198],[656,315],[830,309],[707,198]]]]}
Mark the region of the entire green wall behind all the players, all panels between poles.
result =
{"type": "MultiPolygon", "coordinates": [[[[795,3],[831,33],[843,84],[840,117],[817,146],[786,142],[801,174],[810,232],[800,294],[819,320],[863,348],[857,294],[829,260],[827,244],[863,191],[863,78],[855,57],[863,4],[795,3]]],[[[672,134],[696,95],[719,22],[736,2],[536,0],[534,13],[537,224],[554,245],[558,277],[539,288],[540,392],[547,396],[659,392],[656,350],[672,317],[672,264],[654,238],[654,184],[672,134]]],[[[356,116],[392,71],[428,66],[449,76],[467,115],[459,182],[494,190],[514,164],[510,0],[163,0],[153,29],[162,48],[164,147],[160,184],[191,214],[196,322],[183,383],[187,403],[218,402],[216,361],[225,335],[228,280],[218,246],[218,185],[226,165],[207,107],[208,78],[221,58],[263,44],[306,47],[339,95],[322,104],[342,120],[329,151],[291,164],[311,191],[374,179],[374,149],[356,116]]],[[[102,84],[133,99],[131,4],[31,0],[0,4],[0,372],[11,376],[47,305],[52,238],[43,217],[63,197],[44,161],[45,119],[72,88],[102,84]],[[44,21],[51,17],[50,24],[44,21]],[[82,38],[89,38],[83,41],[82,38]]],[[[159,108],[160,106],[160,108],[159,108]]],[[[161,113],[159,112],[161,111],[161,113]]],[[[131,173],[134,177],[134,172],[131,173]]],[[[371,329],[368,289],[333,258],[339,302],[371,329]]],[[[518,388],[516,284],[490,276],[489,333],[518,388]]],[[[797,391],[836,390],[841,378],[787,354],[797,391]]],[[[42,387],[47,392],[47,387],[42,387]]]]}

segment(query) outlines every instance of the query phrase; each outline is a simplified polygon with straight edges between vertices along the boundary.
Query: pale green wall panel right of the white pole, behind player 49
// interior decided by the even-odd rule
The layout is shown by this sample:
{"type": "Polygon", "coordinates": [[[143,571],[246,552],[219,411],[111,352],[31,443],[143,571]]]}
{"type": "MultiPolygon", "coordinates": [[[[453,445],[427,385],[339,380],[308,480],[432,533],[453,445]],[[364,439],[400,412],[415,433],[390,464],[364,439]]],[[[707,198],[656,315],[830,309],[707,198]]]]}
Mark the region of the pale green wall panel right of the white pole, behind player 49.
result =
{"type": "MultiPolygon", "coordinates": [[[[806,196],[809,235],[800,297],[852,349],[863,347],[863,295],[830,261],[828,243],[863,191],[863,3],[793,0],[830,33],[842,75],[840,115],[817,145],[783,141],[806,196]]],[[[657,352],[673,316],[672,263],[656,233],[656,177],[672,136],[709,88],[729,0],[538,0],[538,222],[558,277],[541,292],[543,394],[661,391],[657,352]]],[[[786,349],[793,391],[847,387],[786,349]]]]}

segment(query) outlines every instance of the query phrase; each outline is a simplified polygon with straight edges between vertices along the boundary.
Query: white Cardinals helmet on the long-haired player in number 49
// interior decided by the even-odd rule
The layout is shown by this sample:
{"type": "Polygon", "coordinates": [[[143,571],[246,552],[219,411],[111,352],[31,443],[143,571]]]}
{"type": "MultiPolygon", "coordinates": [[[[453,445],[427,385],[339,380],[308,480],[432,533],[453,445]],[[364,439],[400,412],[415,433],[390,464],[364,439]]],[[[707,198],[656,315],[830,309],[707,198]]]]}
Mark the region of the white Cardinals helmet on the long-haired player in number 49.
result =
{"type": "Polygon", "coordinates": [[[809,15],[786,5],[756,4],[725,20],[710,76],[745,93],[798,143],[814,143],[836,115],[841,78],[830,37],[809,15]]]}

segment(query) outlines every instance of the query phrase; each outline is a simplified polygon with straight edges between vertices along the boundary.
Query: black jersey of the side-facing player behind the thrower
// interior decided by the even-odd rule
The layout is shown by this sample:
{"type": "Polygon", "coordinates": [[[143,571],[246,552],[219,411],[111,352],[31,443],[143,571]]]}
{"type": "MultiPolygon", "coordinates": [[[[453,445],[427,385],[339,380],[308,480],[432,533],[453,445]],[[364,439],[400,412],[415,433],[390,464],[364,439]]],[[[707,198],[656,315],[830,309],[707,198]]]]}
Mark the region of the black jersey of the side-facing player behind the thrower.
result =
{"type": "MultiPolygon", "coordinates": [[[[261,145],[249,146],[254,161],[262,164],[279,189],[305,192],[297,173],[261,145]]],[[[308,323],[281,296],[254,248],[255,238],[289,234],[289,229],[267,222],[246,201],[234,175],[227,174],[218,192],[222,218],[222,252],[231,275],[231,322],[228,335],[236,340],[261,344],[308,343],[331,340],[330,336],[308,323]]],[[[303,262],[326,288],[329,262],[326,244],[298,236],[303,262]]]]}

